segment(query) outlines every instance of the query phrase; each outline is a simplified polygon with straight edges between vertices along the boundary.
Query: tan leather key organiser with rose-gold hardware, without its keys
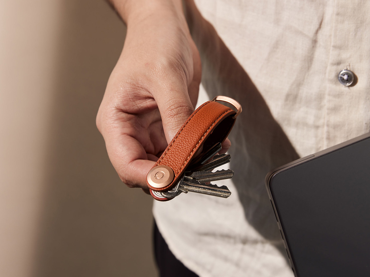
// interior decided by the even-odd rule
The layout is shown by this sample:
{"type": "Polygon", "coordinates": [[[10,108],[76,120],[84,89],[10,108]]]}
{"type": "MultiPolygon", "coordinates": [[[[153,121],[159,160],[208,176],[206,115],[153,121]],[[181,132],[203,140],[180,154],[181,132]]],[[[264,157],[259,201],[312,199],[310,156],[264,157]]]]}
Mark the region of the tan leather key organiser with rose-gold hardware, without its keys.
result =
{"type": "Polygon", "coordinates": [[[199,106],[148,172],[147,185],[153,198],[159,201],[169,200],[170,198],[161,196],[161,192],[171,190],[184,177],[186,168],[194,165],[215,144],[222,143],[241,112],[240,104],[227,96],[216,96],[212,101],[199,106]],[[230,103],[236,111],[220,102],[230,103]],[[200,149],[202,153],[195,157],[200,149]]]}

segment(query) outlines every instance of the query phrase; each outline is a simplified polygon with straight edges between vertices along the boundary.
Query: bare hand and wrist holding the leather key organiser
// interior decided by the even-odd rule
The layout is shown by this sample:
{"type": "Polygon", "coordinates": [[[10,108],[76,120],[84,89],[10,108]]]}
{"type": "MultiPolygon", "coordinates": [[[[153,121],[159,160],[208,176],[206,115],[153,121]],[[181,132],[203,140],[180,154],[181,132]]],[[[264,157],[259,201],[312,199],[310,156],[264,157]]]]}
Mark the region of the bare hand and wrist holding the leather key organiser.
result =
{"type": "Polygon", "coordinates": [[[147,189],[147,172],[194,111],[201,61],[181,1],[140,2],[117,6],[127,35],[96,124],[122,182],[147,189]]]}

